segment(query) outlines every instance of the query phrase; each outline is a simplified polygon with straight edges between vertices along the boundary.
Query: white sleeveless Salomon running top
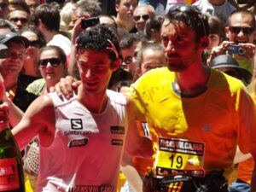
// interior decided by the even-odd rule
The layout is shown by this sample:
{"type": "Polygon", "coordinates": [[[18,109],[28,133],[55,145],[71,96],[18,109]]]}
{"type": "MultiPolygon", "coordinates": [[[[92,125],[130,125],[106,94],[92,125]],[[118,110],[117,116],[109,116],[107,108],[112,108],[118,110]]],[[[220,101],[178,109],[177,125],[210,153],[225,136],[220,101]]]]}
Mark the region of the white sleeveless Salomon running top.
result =
{"type": "Polygon", "coordinates": [[[74,97],[63,102],[49,94],[55,106],[55,139],[48,148],[40,146],[37,192],[116,191],[126,101],[112,90],[107,95],[106,109],[95,114],[74,97]]]}

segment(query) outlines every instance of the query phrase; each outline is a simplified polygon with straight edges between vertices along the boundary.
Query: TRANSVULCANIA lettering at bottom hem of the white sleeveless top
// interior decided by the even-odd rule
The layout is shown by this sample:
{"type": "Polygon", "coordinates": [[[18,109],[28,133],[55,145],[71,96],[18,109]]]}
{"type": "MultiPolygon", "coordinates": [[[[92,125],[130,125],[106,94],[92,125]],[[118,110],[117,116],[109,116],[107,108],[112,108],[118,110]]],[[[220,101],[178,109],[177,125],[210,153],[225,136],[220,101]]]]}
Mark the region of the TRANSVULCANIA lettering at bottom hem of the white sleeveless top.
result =
{"type": "Polygon", "coordinates": [[[88,186],[76,185],[68,189],[68,192],[114,192],[113,186],[88,186]]]}

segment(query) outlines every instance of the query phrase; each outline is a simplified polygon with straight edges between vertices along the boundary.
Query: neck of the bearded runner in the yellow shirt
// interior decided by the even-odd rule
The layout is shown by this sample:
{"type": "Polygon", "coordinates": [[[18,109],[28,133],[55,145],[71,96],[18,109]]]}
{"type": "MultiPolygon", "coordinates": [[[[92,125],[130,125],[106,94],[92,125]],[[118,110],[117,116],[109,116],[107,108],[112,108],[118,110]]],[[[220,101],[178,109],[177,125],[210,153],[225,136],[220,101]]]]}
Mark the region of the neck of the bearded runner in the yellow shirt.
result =
{"type": "Polygon", "coordinates": [[[183,72],[176,73],[176,88],[184,96],[195,96],[207,88],[210,69],[200,65],[191,65],[183,72]]]}

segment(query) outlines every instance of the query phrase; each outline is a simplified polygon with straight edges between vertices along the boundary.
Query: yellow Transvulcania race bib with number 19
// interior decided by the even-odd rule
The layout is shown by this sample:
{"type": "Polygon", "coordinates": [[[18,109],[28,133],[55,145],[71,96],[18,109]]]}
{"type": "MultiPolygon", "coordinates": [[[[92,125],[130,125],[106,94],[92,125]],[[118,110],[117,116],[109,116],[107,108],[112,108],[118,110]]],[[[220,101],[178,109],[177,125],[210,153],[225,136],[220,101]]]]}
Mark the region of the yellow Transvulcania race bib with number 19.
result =
{"type": "Polygon", "coordinates": [[[154,164],[156,174],[204,177],[204,152],[205,143],[159,137],[154,164]]]}

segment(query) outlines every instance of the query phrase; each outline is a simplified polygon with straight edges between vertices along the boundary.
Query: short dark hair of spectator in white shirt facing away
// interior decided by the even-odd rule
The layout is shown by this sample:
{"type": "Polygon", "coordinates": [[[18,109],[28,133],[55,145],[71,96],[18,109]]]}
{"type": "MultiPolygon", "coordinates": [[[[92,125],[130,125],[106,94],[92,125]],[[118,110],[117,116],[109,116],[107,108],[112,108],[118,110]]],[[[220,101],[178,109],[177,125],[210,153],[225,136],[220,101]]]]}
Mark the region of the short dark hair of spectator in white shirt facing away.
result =
{"type": "Polygon", "coordinates": [[[49,4],[41,4],[35,9],[34,24],[38,26],[38,20],[41,20],[49,31],[60,30],[61,16],[59,10],[49,4]]]}

